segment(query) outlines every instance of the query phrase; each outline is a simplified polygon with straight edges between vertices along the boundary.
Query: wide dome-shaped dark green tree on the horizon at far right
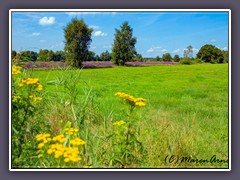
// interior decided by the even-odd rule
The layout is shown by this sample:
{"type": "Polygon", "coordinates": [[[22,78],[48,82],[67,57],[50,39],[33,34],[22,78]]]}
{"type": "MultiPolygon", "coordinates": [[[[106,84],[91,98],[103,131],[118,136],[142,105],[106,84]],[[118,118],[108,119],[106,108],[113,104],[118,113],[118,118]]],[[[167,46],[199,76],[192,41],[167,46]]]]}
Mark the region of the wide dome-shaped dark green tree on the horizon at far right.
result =
{"type": "Polygon", "coordinates": [[[204,62],[211,62],[211,63],[224,62],[222,51],[211,44],[206,44],[202,46],[197,53],[197,58],[203,60],[204,62]]]}

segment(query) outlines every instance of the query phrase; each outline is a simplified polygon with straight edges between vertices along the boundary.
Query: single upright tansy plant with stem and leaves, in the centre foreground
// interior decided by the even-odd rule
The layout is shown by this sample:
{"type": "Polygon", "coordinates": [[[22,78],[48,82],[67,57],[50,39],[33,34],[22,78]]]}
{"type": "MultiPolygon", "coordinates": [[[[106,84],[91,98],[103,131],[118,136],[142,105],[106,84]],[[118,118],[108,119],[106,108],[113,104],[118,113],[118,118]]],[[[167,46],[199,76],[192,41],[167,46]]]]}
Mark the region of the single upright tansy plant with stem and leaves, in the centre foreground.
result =
{"type": "Polygon", "coordinates": [[[139,120],[140,117],[133,113],[135,107],[146,105],[144,98],[135,98],[126,93],[115,94],[120,97],[126,106],[129,107],[126,120],[113,122],[113,134],[111,139],[112,156],[110,166],[127,167],[129,164],[138,163],[143,157],[143,146],[139,141],[139,120]]]}

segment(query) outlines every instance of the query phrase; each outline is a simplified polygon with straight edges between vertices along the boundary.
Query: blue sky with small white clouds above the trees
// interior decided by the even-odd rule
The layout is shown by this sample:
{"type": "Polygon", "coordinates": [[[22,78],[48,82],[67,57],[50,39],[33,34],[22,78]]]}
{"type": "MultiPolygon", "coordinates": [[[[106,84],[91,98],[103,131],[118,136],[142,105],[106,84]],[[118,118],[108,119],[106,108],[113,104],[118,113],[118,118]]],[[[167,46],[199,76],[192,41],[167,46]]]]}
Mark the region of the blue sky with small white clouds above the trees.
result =
{"type": "Polygon", "coordinates": [[[75,17],[94,29],[90,50],[96,54],[111,52],[115,28],[124,21],[143,57],[182,56],[188,45],[194,54],[205,44],[228,48],[228,12],[12,12],[12,49],[63,50],[63,29],[75,17]]]}

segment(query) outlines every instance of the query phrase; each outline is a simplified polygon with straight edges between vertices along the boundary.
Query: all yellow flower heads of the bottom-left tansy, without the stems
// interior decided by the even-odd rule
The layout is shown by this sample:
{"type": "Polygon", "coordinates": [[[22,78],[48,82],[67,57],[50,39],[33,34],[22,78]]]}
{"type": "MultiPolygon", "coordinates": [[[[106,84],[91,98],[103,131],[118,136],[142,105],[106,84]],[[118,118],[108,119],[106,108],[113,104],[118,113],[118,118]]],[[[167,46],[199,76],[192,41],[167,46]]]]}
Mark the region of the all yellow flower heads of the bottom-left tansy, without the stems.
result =
{"type": "MultiPolygon", "coordinates": [[[[65,130],[69,133],[78,132],[78,129],[74,128],[66,128],[65,130]]],[[[63,134],[57,135],[53,138],[50,137],[50,134],[38,134],[36,139],[37,141],[40,141],[38,144],[39,149],[42,149],[46,143],[51,142],[51,144],[48,144],[48,147],[46,146],[46,148],[44,148],[46,149],[47,154],[54,154],[54,158],[56,159],[63,157],[64,162],[66,163],[80,161],[81,158],[79,157],[80,152],[78,146],[86,144],[82,139],[75,138],[69,140],[69,145],[67,145],[67,138],[63,134]]]]}

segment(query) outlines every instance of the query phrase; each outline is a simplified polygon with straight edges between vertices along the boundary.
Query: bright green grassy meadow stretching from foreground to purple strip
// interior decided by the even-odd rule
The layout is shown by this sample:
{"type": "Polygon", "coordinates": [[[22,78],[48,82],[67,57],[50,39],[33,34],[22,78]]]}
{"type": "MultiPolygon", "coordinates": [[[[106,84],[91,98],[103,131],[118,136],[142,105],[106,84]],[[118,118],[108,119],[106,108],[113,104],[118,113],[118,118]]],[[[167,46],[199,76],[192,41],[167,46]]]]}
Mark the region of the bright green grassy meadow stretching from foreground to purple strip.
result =
{"type": "MultiPolygon", "coordinates": [[[[82,160],[71,167],[228,167],[228,64],[27,73],[43,85],[43,100],[29,125],[32,132],[26,135],[27,147],[37,148],[37,134],[60,134],[70,122],[86,142],[82,160]],[[130,114],[117,92],[142,97],[146,105],[134,107],[130,114]],[[130,125],[117,130],[113,126],[120,120],[135,122],[132,140],[127,140],[136,143],[131,148],[123,146],[130,125]]],[[[51,164],[54,158],[48,155],[44,163],[47,157],[41,156],[25,148],[19,162],[22,167],[56,167],[51,164]]],[[[67,167],[59,162],[57,167],[67,167]]]]}

